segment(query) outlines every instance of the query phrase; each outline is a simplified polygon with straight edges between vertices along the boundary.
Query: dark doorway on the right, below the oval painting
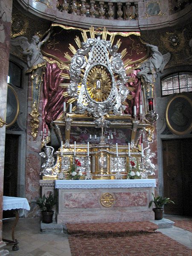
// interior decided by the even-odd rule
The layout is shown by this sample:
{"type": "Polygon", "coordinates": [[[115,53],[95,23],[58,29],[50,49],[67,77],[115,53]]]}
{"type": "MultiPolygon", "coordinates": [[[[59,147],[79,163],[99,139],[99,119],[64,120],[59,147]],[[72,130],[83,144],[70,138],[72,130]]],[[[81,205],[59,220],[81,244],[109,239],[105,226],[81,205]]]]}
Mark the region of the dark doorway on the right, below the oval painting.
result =
{"type": "Polygon", "coordinates": [[[192,216],[192,138],[163,140],[163,187],[165,213],[192,216]]]}

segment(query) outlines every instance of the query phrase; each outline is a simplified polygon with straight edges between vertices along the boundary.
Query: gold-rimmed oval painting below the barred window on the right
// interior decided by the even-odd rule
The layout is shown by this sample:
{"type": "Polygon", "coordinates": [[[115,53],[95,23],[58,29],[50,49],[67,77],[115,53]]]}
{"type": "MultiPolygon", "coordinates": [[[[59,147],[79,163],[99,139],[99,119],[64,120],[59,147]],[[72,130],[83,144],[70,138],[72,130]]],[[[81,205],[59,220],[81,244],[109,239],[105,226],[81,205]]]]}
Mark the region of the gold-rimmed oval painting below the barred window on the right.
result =
{"type": "Polygon", "coordinates": [[[176,95],[166,108],[166,123],[170,131],[182,135],[192,130],[192,99],[186,95],[176,95]]]}

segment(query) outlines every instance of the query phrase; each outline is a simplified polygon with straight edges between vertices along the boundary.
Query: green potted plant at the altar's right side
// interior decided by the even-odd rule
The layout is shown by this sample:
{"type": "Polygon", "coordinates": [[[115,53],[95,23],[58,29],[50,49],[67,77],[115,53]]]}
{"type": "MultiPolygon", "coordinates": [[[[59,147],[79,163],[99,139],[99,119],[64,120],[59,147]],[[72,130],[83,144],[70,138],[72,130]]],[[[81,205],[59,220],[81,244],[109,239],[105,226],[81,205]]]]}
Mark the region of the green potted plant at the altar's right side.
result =
{"type": "Polygon", "coordinates": [[[162,196],[158,195],[157,197],[153,195],[153,199],[149,202],[148,208],[154,203],[155,208],[153,208],[155,214],[155,220],[161,220],[163,218],[163,206],[164,204],[175,204],[170,198],[163,198],[162,196]]]}

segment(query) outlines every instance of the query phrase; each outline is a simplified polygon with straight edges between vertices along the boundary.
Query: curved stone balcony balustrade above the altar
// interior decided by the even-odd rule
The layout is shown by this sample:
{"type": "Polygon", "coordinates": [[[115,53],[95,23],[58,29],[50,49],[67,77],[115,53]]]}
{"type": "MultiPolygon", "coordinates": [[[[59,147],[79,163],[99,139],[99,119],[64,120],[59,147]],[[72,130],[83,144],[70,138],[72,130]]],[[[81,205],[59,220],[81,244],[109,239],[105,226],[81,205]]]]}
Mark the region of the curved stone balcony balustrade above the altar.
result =
{"type": "Polygon", "coordinates": [[[192,16],[192,0],[17,0],[32,14],[67,26],[141,31],[174,26],[192,16]]]}

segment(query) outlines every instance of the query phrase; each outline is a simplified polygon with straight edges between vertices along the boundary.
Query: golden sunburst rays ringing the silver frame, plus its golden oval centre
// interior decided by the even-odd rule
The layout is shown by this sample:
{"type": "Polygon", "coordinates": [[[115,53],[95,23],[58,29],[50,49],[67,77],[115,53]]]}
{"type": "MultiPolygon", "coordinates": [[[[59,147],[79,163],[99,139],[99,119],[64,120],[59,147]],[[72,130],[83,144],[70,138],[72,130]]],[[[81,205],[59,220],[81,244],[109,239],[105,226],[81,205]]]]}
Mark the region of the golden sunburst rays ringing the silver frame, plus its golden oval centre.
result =
{"type": "MultiPolygon", "coordinates": [[[[103,29],[99,28],[99,30],[102,31],[102,33],[101,33],[102,39],[106,41],[107,36],[108,36],[107,29],[104,27],[103,29]]],[[[90,33],[90,38],[95,38],[95,35],[98,34],[97,31],[94,30],[93,26],[90,27],[89,33],[90,33]]],[[[83,41],[86,42],[88,38],[87,38],[87,32],[85,30],[83,32],[81,32],[81,36],[83,38],[83,41]]],[[[111,45],[113,45],[114,39],[115,39],[115,35],[111,34],[111,36],[110,36],[111,45]]],[[[66,52],[64,54],[65,58],[67,58],[67,60],[69,62],[71,62],[73,55],[76,54],[77,49],[81,49],[81,40],[80,40],[79,36],[76,36],[76,38],[74,40],[75,40],[76,46],[69,44],[69,50],[70,50],[70,52],[72,52],[72,55],[68,52],[66,52]]],[[[118,39],[116,41],[116,45],[118,46],[118,48],[121,46],[121,44],[122,44],[121,40],[118,39]]],[[[126,54],[127,54],[127,49],[125,48],[121,51],[122,58],[125,58],[126,54]]],[[[85,58],[86,58],[86,61],[88,61],[87,56],[85,56],[85,58]]],[[[130,73],[133,73],[134,68],[131,66],[132,60],[126,59],[123,62],[124,62],[124,67],[126,69],[126,74],[129,75],[130,73]]],[[[67,64],[64,63],[64,69],[70,70],[70,63],[67,63],[67,64]]],[[[85,69],[82,69],[81,75],[80,75],[81,79],[84,77],[84,72],[85,72],[85,69]]],[[[70,80],[70,76],[67,73],[61,73],[61,77],[64,79],[70,80]]],[[[118,76],[115,76],[116,79],[117,79],[117,77],[118,76]]],[[[132,81],[134,81],[134,78],[128,79],[128,82],[132,82],[132,81]]],[[[69,82],[60,84],[61,87],[66,88],[66,89],[69,85],[70,85],[69,82]]],[[[90,97],[93,100],[95,100],[96,102],[105,101],[111,92],[111,87],[112,87],[111,75],[108,73],[108,70],[105,67],[95,66],[90,70],[90,72],[87,76],[87,90],[88,90],[88,93],[90,94],[90,97]]],[[[79,93],[80,89],[81,89],[81,83],[79,83],[79,85],[78,85],[78,93],[79,93]]],[[[128,89],[130,91],[134,90],[133,87],[128,87],[128,89]]],[[[67,91],[62,93],[62,95],[65,98],[68,97],[68,99],[67,99],[68,104],[76,101],[75,98],[70,97],[68,95],[67,91]]],[[[127,99],[131,100],[132,98],[133,97],[131,95],[127,96],[127,99]]],[[[127,102],[123,102],[122,104],[128,105],[127,102]]],[[[76,107],[74,107],[74,108],[76,108],[76,107]]]]}

